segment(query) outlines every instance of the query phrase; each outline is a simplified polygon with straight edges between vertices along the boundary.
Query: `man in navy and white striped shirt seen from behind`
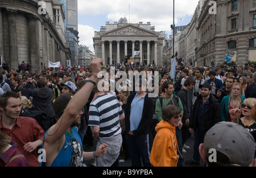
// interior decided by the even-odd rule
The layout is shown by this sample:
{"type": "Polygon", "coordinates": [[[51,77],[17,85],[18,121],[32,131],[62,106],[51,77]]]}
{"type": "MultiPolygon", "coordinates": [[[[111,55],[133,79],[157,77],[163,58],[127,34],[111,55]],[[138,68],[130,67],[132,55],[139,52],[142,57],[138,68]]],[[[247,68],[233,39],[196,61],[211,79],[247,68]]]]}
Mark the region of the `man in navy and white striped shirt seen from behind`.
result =
{"type": "Polygon", "coordinates": [[[96,93],[89,107],[89,125],[92,126],[94,139],[97,146],[108,144],[108,152],[95,159],[96,166],[118,166],[118,156],[122,146],[122,135],[119,119],[124,119],[122,107],[116,97],[105,94],[94,88],[96,93]]]}

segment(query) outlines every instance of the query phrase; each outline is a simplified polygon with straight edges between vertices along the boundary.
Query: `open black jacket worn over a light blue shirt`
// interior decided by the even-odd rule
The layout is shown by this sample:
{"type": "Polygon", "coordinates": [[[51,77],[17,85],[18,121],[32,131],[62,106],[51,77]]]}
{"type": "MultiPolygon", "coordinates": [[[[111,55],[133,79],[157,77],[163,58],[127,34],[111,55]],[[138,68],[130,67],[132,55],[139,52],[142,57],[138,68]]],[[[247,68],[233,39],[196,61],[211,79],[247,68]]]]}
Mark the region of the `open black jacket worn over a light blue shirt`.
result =
{"type": "Polygon", "coordinates": [[[150,123],[152,122],[153,114],[154,114],[154,103],[152,98],[148,97],[148,93],[144,98],[144,105],[142,111],[141,122],[137,130],[130,130],[130,112],[131,112],[131,102],[135,94],[130,94],[126,101],[125,107],[125,129],[128,133],[129,131],[133,131],[134,136],[139,136],[141,134],[146,135],[150,131],[150,123]]]}

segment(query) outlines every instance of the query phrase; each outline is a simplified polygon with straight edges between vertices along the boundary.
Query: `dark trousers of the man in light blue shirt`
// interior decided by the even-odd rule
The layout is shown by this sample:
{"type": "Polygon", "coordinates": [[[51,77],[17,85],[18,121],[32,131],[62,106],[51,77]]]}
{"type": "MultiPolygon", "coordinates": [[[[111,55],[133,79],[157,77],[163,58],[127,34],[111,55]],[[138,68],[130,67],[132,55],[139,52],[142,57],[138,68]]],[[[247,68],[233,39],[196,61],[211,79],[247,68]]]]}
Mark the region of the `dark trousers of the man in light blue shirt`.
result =
{"type": "Polygon", "coordinates": [[[150,167],[150,148],[147,135],[133,136],[126,133],[127,149],[131,158],[131,166],[141,167],[141,159],[144,167],[150,167]]]}

